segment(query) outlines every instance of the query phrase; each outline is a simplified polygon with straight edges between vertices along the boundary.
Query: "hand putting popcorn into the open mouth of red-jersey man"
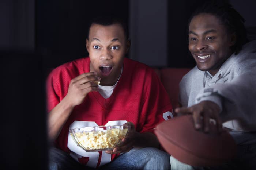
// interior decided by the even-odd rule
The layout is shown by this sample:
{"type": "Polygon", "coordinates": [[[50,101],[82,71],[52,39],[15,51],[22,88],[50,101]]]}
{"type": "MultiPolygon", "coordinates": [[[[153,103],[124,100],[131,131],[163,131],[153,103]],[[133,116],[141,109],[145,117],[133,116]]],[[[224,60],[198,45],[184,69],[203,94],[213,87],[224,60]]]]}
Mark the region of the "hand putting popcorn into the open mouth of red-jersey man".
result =
{"type": "Polygon", "coordinates": [[[95,81],[101,80],[96,72],[83,73],[71,80],[66,100],[72,106],[79,105],[89,92],[98,91],[95,81]]]}

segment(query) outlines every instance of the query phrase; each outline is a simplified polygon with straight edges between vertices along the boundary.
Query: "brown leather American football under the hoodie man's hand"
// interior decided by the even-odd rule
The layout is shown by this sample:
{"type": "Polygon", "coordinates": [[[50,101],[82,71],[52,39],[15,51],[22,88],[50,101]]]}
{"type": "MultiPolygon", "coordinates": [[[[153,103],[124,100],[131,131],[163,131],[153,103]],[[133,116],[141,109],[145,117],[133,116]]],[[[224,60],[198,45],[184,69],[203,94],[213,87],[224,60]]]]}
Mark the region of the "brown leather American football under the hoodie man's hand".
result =
{"type": "Polygon", "coordinates": [[[217,166],[236,154],[236,143],[229,132],[217,132],[214,124],[208,133],[197,131],[192,115],[158,124],[155,134],[166,152],[191,166],[217,166]]]}

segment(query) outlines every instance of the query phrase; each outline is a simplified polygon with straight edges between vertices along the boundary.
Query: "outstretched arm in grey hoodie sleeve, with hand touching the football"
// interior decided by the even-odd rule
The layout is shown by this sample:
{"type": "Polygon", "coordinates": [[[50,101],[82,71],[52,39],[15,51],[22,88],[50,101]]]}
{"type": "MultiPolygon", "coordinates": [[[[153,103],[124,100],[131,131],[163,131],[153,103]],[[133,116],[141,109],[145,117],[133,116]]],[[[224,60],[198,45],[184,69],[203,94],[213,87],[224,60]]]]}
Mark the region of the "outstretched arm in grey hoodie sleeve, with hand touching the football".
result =
{"type": "Polygon", "coordinates": [[[196,105],[176,111],[193,114],[195,126],[199,128],[202,124],[198,126],[196,122],[206,115],[204,121],[208,123],[209,117],[215,119],[219,129],[220,124],[226,122],[223,126],[227,128],[255,131],[256,64],[253,60],[244,63],[232,80],[202,89],[196,97],[196,105]],[[210,113],[212,111],[214,113],[210,113]]]}

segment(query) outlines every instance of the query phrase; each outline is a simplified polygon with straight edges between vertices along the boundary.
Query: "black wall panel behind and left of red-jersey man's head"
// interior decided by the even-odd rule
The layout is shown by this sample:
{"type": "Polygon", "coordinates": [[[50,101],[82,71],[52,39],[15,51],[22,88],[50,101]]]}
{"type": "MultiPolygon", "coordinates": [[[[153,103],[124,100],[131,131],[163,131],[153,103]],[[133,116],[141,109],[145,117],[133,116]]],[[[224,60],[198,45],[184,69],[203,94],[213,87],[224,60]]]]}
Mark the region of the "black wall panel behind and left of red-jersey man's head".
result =
{"type": "Polygon", "coordinates": [[[47,68],[88,55],[89,19],[116,13],[128,23],[128,0],[38,0],[37,48],[47,68]]]}

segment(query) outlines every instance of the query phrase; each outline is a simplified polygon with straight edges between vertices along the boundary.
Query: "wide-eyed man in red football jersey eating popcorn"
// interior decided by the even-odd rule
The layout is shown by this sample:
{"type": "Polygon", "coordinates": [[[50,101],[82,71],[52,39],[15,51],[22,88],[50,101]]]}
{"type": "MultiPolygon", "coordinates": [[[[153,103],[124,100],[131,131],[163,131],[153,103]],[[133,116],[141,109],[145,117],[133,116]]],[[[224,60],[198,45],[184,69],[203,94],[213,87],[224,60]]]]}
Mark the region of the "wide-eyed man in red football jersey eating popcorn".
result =
{"type": "Polygon", "coordinates": [[[52,169],[169,169],[169,155],[159,150],[153,129],[172,117],[169,97],[154,70],[124,58],[130,46],[128,29],[113,17],[90,25],[89,57],[65,63],[47,79],[48,134],[52,169]],[[98,85],[97,81],[100,81],[98,85]],[[86,152],[69,129],[130,125],[120,147],[86,152]]]}

